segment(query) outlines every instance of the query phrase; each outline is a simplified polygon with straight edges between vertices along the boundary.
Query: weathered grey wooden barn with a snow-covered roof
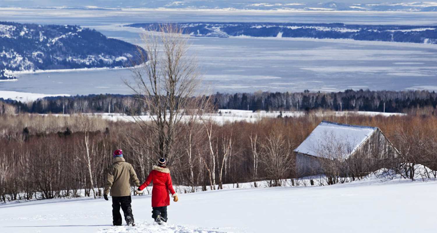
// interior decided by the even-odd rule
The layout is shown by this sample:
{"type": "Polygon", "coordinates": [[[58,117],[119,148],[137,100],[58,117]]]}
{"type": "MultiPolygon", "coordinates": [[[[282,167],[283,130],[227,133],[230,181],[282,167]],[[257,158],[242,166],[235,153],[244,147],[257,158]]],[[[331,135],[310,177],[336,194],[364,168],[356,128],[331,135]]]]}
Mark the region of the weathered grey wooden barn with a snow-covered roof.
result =
{"type": "Polygon", "coordinates": [[[370,163],[399,154],[378,127],[327,121],[321,122],[294,152],[298,177],[323,174],[326,160],[347,161],[359,156],[370,163]]]}

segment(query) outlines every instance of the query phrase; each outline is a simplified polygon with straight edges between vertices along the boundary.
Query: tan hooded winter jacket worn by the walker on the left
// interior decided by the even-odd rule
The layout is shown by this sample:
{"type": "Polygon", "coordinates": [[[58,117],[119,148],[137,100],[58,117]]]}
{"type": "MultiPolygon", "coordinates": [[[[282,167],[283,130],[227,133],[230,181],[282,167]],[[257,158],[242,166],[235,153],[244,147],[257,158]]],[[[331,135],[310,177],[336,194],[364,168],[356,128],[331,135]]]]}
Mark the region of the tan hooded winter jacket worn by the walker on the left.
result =
{"type": "Polygon", "coordinates": [[[132,165],[126,163],[123,157],[112,159],[112,166],[108,170],[104,194],[108,195],[111,189],[111,196],[130,196],[131,182],[135,182],[137,187],[141,185],[132,165]]]}

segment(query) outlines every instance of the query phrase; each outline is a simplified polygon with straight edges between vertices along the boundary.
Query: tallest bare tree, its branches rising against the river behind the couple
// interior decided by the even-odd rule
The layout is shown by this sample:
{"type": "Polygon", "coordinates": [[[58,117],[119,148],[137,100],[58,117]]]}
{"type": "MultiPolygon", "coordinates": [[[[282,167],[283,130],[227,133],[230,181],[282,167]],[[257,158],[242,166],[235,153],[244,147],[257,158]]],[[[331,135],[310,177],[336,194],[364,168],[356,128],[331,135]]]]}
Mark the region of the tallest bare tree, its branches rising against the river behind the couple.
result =
{"type": "Polygon", "coordinates": [[[156,142],[149,150],[158,157],[171,158],[184,108],[194,96],[200,75],[194,56],[188,55],[189,36],[173,24],[159,27],[151,30],[157,33],[141,36],[145,52],[138,49],[140,63],[132,69],[134,83],[125,80],[125,84],[150,114],[149,120],[133,116],[139,128],[146,134],[150,132],[156,142]]]}

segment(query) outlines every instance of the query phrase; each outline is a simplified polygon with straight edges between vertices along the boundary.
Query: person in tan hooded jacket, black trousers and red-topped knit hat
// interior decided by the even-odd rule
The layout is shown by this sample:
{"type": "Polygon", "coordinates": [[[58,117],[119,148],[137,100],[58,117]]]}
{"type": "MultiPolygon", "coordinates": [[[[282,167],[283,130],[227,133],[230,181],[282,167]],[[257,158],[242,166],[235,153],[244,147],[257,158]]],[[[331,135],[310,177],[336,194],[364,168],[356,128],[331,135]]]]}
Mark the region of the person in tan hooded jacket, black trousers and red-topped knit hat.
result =
{"type": "Polygon", "coordinates": [[[134,182],[137,187],[141,185],[132,164],[125,162],[123,151],[114,151],[112,165],[108,170],[108,177],[106,179],[103,195],[105,200],[108,201],[108,194],[109,191],[111,191],[112,224],[114,226],[121,226],[120,207],[125,215],[126,224],[128,226],[135,226],[131,206],[132,182],[134,182]]]}

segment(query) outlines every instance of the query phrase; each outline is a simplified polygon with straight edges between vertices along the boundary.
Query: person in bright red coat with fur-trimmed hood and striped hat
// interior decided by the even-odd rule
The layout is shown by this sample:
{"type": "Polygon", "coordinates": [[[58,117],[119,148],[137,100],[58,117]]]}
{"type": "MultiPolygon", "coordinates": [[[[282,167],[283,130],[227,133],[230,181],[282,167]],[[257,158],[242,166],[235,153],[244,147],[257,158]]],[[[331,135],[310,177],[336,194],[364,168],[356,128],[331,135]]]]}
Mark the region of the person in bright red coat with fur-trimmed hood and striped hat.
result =
{"type": "Polygon", "coordinates": [[[174,202],[178,201],[177,193],[173,189],[171,182],[170,170],[166,168],[166,159],[160,158],[158,166],[154,165],[153,170],[149,173],[146,181],[137,189],[141,194],[144,189],[153,182],[152,189],[152,218],[155,222],[162,224],[167,222],[167,205],[170,205],[169,192],[174,202]]]}

